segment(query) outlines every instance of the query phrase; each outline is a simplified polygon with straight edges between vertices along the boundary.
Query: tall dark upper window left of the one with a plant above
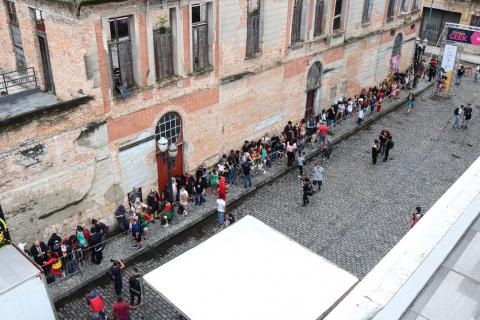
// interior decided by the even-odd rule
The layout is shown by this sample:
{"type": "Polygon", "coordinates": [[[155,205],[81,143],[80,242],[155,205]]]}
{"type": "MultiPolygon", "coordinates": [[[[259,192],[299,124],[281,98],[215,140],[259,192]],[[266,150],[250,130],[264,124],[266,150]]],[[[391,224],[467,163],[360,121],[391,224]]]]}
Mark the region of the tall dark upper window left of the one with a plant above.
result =
{"type": "Polygon", "coordinates": [[[133,87],[132,44],[130,39],[130,21],[128,17],[110,19],[110,41],[108,50],[112,66],[115,88],[122,92],[123,88],[133,87]]]}

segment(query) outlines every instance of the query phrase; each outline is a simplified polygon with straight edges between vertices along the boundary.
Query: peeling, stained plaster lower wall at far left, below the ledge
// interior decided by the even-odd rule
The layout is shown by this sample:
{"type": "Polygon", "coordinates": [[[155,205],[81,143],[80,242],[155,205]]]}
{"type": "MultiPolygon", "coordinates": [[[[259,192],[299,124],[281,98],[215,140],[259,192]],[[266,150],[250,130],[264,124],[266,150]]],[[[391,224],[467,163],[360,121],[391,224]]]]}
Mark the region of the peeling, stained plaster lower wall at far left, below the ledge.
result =
{"type": "Polygon", "coordinates": [[[122,193],[114,183],[107,126],[32,142],[1,160],[0,201],[14,241],[70,234],[92,218],[113,222],[122,193]],[[20,159],[20,160],[19,160],[20,159]],[[103,213],[103,216],[102,216],[103,213]]]}

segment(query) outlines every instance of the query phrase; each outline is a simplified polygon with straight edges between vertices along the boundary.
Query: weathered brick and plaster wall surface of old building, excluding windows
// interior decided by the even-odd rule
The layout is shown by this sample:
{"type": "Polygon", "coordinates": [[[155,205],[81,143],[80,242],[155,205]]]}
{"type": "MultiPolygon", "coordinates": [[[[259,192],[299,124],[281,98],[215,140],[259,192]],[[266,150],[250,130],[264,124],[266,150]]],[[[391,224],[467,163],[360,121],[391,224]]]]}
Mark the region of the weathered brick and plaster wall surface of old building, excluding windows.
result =
{"type": "MultiPolygon", "coordinates": [[[[375,6],[381,2],[385,3],[375,0],[375,6]]],[[[28,16],[28,5],[38,4],[27,1],[17,10],[28,16]]],[[[155,185],[155,140],[128,150],[120,147],[151,137],[167,112],[182,118],[184,169],[190,171],[204,161],[215,163],[244,140],[279,132],[288,120],[302,119],[308,71],[317,61],[324,71],[317,91],[318,111],[343,94],[356,94],[383,80],[398,32],[406,41],[400,65],[407,68],[418,27],[400,27],[402,19],[387,25],[378,8],[372,23],[362,27],[358,4],[350,1],[350,5],[345,33],[323,39],[313,37],[314,2],[308,1],[306,41],[291,46],[292,1],[265,0],[261,54],[245,59],[246,1],[222,1],[215,7],[218,15],[213,20],[219,26],[211,51],[214,69],[202,74],[191,72],[190,9],[177,6],[179,77],[157,83],[151,36],[158,17],[166,12],[158,4],[152,4],[147,15],[144,2],[87,6],[80,18],[70,10],[42,4],[57,95],[68,100],[82,89],[95,100],[0,131],[0,201],[15,240],[53,231],[69,233],[92,217],[111,222],[114,207],[131,187],[146,191],[155,185]],[[134,21],[137,80],[126,100],[112,93],[107,52],[108,18],[122,15],[131,15],[134,21]],[[390,29],[395,30],[393,35],[390,29]],[[235,80],[233,76],[239,74],[244,77],[235,80]],[[28,151],[36,158],[26,156],[28,151]],[[129,170],[132,161],[135,168],[129,170]]],[[[333,1],[327,1],[325,10],[331,13],[333,1]]],[[[26,58],[41,70],[31,18],[21,22],[26,58]]],[[[331,32],[330,19],[325,30],[325,34],[331,32]]]]}

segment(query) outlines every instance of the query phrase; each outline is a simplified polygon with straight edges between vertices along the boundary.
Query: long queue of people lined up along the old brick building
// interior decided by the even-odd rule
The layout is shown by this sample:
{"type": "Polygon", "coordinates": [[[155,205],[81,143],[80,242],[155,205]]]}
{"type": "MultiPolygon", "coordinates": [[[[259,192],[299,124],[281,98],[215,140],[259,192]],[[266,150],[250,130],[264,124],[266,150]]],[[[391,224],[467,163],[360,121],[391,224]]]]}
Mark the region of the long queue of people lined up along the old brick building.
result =
{"type": "MultiPolygon", "coordinates": [[[[363,89],[358,95],[341,97],[317,115],[309,115],[295,124],[288,121],[281,133],[271,137],[265,134],[259,140],[245,141],[240,150],[224,154],[213,168],[202,164],[193,173],[186,172],[172,178],[171,189],[167,188],[165,192],[151,189],[145,201],[141,196],[129,199],[128,205],[121,204],[115,211],[120,231],[117,236],[131,233],[132,248],[139,250],[142,240],[149,236],[150,224],[160,223],[168,227],[174,215],[186,216],[190,206],[204,205],[207,195],[216,196],[217,224],[219,228],[224,228],[235,221],[235,217],[226,210],[228,189],[240,184],[240,181],[243,181],[244,188],[251,188],[252,176],[266,173],[284,157],[287,166],[298,167],[303,205],[306,205],[308,197],[320,190],[325,169],[315,166],[313,172],[305,171],[305,148],[319,148],[322,160],[328,162],[333,153],[332,135],[336,127],[348,119],[356,119],[361,124],[367,114],[381,112],[387,96],[398,98],[400,89],[416,85],[414,82],[410,71],[391,74],[388,79],[363,89]]],[[[413,95],[410,100],[409,109],[412,109],[413,95]]],[[[382,141],[380,137],[379,150],[383,150],[388,159],[389,149],[383,147],[382,141]]],[[[385,145],[388,143],[385,142],[385,145]]],[[[42,266],[49,283],[75,273],[88,260],[94,264],[102,262],[109,227],[95,219],[91,222],[91,226],[77,226],[69,236],[62,238],[54,233],[47,243],[37,240],[26,250],[42,266]]]]}

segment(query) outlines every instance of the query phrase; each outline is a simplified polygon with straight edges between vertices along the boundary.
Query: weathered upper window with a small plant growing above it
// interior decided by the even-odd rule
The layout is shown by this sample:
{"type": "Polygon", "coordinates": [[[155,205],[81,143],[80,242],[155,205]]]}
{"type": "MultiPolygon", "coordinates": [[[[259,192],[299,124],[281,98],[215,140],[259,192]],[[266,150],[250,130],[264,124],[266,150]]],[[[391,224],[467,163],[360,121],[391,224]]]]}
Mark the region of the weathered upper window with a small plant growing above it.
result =
{"type": "Polygon", "coordinates": [[[153,32],[157,80],[168,78],[174,74],[172,38],[171,28],[155,30],[153,32]]]}

